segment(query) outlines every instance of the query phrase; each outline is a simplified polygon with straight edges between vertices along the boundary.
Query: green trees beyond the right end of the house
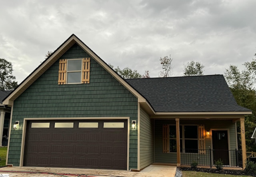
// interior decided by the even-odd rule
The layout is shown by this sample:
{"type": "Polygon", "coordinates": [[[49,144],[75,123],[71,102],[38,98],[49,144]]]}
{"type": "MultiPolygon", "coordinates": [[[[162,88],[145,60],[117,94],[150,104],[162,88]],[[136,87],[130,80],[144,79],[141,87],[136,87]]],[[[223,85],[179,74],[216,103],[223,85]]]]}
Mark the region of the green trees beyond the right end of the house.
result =
{"type": "MultiPolygon", "coordinates": [[[[230,65],[224,72],[224,77],[230,87],[238,105],[252,110],[251,115],[245,116],[246,150],[256,151],[255,140],[251,139],[256,127],[256,58],[251,62],[245,62],[244,70],[240,71],[237,66],[230,65]]],[[[237,123],[238,139],[240,139],[240,123],[237,123]]]]}

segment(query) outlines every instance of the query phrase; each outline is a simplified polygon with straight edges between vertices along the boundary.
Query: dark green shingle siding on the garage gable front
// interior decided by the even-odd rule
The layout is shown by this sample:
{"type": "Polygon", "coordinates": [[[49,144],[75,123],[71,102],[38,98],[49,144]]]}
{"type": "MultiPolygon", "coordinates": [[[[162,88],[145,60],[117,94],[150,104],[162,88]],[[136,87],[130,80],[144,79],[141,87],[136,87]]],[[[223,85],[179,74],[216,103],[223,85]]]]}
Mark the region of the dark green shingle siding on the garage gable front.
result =
{"type": "MultiPolygon", "coordinates": [[[[60,59],[89,56],[74,44],[60,59]]],[[[27,88],[13,105],[8,164],[20,165],[20,146],[24,118],[41,117],[130,117],[138,120],[138,100],[92,57],[90,84],[58,85],[59,60],[27,88]]],[[[130,123],[131,127],[131,123],[130,123]]],[[[131,128],[130,128],[131,129],[131,128]]],[[[130,131],[130,169],[137,169],[137,131],[130,131]]]]}

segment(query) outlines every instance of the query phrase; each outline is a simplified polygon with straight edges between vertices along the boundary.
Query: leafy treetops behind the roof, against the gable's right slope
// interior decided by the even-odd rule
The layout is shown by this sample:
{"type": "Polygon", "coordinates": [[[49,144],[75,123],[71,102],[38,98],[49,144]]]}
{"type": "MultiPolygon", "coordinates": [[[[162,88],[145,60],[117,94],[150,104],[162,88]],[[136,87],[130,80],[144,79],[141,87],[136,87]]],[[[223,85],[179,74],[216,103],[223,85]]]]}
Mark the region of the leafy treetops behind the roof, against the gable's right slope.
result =
{"type": "Polygon", "coordinates": [[[132,71],[132,69],[127,68],[127,67],[121,70],[119,67],[114,68],[114,66],[111,65],[111,64],[109,64],[109,66],[110,66],[111,68],[113,68],[113,70],[114,70],[115,72],[117,72],[117,73],[118,73],[122,78],[124,78],[124,79],[142,78],[142,76],[138,73],[137,70],[133,70],[133,71],[132,71]]]}

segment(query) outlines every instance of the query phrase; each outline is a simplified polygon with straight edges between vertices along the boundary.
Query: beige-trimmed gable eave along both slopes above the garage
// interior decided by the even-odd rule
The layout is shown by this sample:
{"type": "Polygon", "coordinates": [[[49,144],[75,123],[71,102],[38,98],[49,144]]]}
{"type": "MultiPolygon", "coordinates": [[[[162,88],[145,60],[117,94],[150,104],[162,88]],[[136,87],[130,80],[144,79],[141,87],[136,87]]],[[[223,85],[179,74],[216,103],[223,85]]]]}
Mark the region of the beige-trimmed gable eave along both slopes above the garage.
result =
{"type": "MultiPolygon", "coordinates": [[[[105,70],[107,70],[116,80],[124,87],[131,91],[138,102],[146,102],[146,99],[138,93],[130,84],[128,84],[121,76],[119,76],[108,64],[106,64],[99,56],[97,56],[86,44],[84,44],[76,35],[72,34],[59,48],[57,48],[40,66],[38,66],[21,84],[19,84],[6,98],[3,100],[3,105],[12,106],[13,101],[25,91],[35,80],[37,80],[54,62],[60,58],[71,46],[77,43],[83,48],[94,60],[96,60],[105,70]]],[[[149,105],[149,104],[148,104],[149,105]]],[[[149,105],[150,106],[150,105],[149,105]]],[[[151,107],[151,106],[150,106],[151,107]]],[[[152,109],[152,107],[151,107],[152,109]]]]}

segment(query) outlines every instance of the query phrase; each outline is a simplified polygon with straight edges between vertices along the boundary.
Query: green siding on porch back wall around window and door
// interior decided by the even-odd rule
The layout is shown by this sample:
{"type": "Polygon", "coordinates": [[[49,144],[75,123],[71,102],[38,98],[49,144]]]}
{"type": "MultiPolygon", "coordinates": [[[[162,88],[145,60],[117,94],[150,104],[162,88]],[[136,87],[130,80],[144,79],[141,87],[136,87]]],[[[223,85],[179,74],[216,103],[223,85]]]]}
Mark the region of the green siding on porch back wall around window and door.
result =
{"type": "MultiPolygon", "coordinates": [[[[155,162],[159,163],[177,163],[176,153],[163,153],[162,152],[162,125],[172,124],[175,125],[175,120],[155,120],[155,162]]],[[[204,125],[207,129],[228,129],[229,130],[229,145],[230,150],[236,149],[236,126],[232,120],[180,120],[180,125],[204,125]]],[[[211,148],[211,137],[205,138],[206,149],[211,148]]],[[[212,148],[211,148],[212,149],[212,148]]],[[[232,160],[232,159],[231,159],[232,160]]],[[[188,159],[189,161],[189,159],[188,159]]],[[[232,160],[233,161],[233,160],[232,160]]]]}

